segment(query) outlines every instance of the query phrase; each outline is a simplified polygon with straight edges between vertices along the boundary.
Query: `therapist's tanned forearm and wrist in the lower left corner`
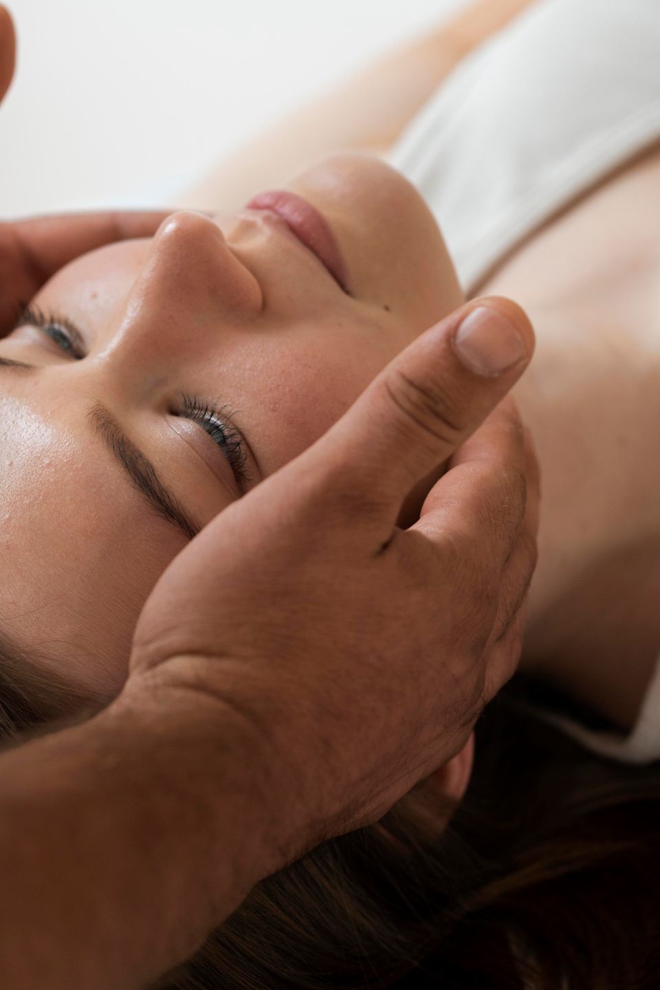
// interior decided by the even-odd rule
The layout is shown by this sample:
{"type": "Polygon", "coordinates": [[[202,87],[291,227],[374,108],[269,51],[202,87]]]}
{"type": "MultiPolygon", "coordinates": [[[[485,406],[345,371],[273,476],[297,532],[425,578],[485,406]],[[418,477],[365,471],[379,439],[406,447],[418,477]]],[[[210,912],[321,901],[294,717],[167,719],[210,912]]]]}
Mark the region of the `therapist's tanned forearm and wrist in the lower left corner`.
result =
{"type": "Polygon", "coordinates": [[[0,754],[3,986],[150,985],[272,871],[263,747],[155,674],[0,754]]]}

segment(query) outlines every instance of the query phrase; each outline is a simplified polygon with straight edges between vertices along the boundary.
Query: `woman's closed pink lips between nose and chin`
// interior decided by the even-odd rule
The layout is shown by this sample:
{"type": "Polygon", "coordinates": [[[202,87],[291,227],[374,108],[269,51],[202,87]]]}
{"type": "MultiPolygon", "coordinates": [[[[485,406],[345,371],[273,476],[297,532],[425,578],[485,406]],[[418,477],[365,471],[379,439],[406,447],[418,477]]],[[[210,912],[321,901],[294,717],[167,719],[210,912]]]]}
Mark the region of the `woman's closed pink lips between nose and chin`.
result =
{"type": "Polygon", "coordinates": [[[326,218],[316,207],[287,189],[271,189],[250,199],[245,209],[272,210],[281,217],[291,233],[317,255],[332,278],[344,292],[348,292],[346,263],[326,218]]]}

